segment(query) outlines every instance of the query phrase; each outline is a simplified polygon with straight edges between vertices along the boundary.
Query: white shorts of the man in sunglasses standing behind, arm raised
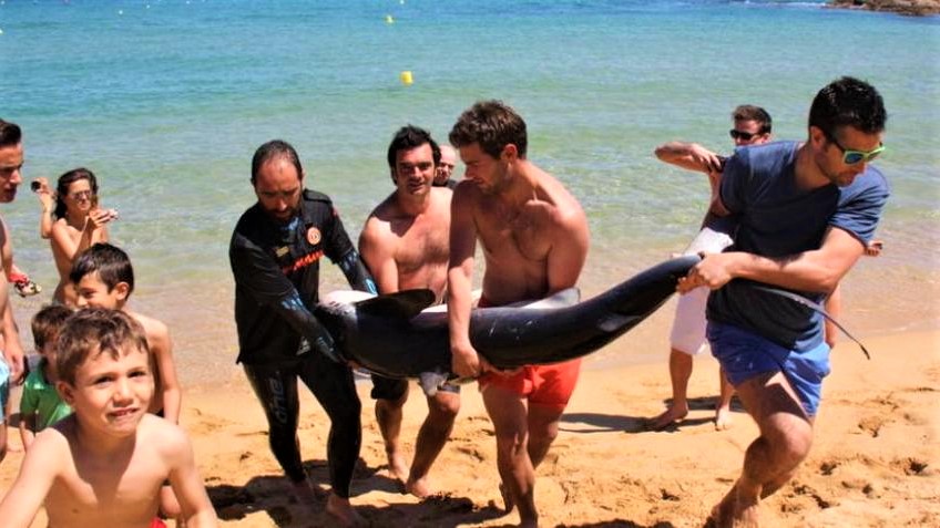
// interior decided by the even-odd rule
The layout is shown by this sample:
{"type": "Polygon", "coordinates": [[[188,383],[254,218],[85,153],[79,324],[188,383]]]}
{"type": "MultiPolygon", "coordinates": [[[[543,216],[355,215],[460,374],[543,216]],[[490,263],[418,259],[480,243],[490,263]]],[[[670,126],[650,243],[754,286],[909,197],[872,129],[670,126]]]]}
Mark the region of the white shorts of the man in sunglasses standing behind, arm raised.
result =
{"type": "MultiPolygon", "coordinates": [[[[683,255],[696,255],[701,251],[719,253],[734,242],[732,237],[711,228],[698,231],[683,255]]],[[[670,346],[688,355],[705,350],[705,306],[708,302],[708,288],[704,286],[682,294],[676,304],[670,346]]]]}

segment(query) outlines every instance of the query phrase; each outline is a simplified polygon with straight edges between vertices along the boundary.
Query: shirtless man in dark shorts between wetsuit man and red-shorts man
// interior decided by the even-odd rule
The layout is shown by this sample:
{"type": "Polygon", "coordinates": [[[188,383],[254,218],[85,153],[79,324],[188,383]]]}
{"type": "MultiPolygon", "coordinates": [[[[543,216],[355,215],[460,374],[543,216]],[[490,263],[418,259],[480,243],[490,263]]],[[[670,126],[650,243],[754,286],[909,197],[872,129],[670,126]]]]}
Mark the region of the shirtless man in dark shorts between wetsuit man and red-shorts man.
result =
{"type": "MultiPolygon", "coordinates": [[[[359,236],[359,252],[381,293],[427,288],[436,301],[443,301],[452,193],[432,186],[440,158],[438,144],[422,128],[405,126],[391,139],[388,167],[395,191],[369,215],[359,236]]],[[[389,470],[411,495],[429,496],[428,472],[453,429],[459,387],[445,384],[428,397],[428,416],[418,431],[410,470],[399,445],[408,380],[372,374],[372,397],[389,470]]]]}

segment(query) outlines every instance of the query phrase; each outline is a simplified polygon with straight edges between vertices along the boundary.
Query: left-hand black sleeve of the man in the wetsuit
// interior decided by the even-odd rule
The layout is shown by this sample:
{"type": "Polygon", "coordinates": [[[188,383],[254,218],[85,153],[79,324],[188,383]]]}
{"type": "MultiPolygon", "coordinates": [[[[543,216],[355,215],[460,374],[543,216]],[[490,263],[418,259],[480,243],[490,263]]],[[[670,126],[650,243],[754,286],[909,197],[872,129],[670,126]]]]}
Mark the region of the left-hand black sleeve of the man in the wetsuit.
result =
{"type": "Polygon", "coordinates": [[[329,332],[307,309],[297,289],[270,257],[249,240],[236,235],[229,258],[238,287],[251,293],[259,304],[275,310],[310,346],[333,361],[341,361],[329,332]]]}

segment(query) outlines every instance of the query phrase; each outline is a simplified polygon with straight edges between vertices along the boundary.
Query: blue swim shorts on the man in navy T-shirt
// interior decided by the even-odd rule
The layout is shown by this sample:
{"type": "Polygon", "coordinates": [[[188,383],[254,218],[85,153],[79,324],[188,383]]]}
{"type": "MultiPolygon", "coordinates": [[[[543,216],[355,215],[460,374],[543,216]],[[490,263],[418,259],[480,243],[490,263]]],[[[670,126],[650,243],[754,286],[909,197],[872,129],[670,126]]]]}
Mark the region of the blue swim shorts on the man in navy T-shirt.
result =
{"type": "Polygon", "coordinates": [[[816,416],[822,379],[829,375],[829,345],[825,342],[799,352],[738,327],[712,321],[707,335],[712,355],[722,364],[732,385],[759,374],[783,372],[806,414],[816,416]]]}

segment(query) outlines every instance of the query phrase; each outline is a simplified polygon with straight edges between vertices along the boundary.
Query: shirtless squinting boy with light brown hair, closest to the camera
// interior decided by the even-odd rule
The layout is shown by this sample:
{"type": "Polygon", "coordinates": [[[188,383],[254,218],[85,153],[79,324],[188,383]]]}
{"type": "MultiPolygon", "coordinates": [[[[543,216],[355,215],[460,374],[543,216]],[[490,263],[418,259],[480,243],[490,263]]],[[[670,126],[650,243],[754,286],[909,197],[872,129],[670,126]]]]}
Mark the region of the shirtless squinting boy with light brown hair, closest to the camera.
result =
{"type": "Polygon", "coordinates": [[[71,317],[55,348],[74,414],[39,433],[0,503],[4,527],[28,527],[45,504],[57,528],[149,528],[170,480],[190,528],[216,526],[186,434],[147,413],[152,360],[141,325],[116,310],[71,317]]]}

